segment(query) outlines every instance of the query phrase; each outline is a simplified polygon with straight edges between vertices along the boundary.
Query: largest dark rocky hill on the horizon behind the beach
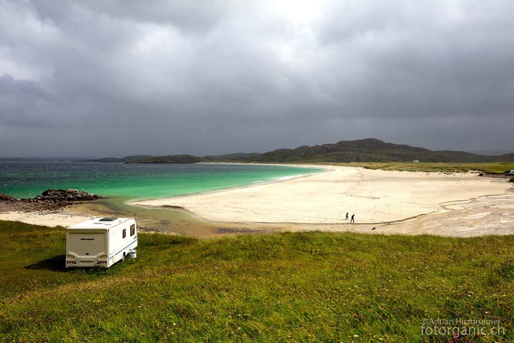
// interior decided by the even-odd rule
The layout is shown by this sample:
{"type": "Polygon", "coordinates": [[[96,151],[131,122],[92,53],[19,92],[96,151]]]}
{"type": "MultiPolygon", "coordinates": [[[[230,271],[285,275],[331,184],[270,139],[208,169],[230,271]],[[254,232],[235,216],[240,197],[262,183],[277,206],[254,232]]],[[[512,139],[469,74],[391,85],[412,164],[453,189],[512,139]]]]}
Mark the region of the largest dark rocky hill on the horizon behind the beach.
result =
{"type": "Polygon", "coordinates": [[[425,148],[387,143],[376,138],[343,140],[333,144],[279,149],[247,159],[248,162],[490,162],[514,161],[512,154],[486,156],[465,151],[432,151],[425,148]]]}

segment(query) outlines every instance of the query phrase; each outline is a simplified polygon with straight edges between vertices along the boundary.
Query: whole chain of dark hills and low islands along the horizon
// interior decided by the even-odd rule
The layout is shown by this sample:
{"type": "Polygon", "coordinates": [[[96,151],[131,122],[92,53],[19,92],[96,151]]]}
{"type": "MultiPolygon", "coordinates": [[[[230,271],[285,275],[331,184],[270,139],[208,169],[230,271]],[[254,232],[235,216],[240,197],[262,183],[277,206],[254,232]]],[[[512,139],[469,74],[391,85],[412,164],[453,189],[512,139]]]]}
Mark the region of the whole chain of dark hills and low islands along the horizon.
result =
{"type": "Polygon", "coordinates": [[[97,162],[130,164],[186,164],[200,162],[242,163],[352,163],[352,162],[514,162],[514,153],[500,156],[473,154],[465,151],[433,151],[425,148],[387,143],[376,138],[342,140],[333,144],[278,149],[265,153],[234,153],[226,155],[133,155],[123,158],[100,158],[97,162]],[[139,157],[139,158],[137,158],[139,157]]]}

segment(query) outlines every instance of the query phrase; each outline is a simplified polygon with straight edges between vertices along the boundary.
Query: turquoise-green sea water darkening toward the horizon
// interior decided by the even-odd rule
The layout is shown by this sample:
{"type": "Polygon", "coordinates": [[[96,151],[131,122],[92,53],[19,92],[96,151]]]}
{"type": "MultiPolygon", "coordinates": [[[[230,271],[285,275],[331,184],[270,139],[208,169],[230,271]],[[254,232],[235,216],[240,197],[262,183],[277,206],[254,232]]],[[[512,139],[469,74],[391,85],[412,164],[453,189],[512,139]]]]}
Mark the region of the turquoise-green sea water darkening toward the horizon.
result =
{"type": "Polygon", "coordinates": [[[47,188],[73,188],[134,200],[251,185],[321,171],[270,165],[0,162],[0,192],[22,198],[34,197],[47,188]]]}

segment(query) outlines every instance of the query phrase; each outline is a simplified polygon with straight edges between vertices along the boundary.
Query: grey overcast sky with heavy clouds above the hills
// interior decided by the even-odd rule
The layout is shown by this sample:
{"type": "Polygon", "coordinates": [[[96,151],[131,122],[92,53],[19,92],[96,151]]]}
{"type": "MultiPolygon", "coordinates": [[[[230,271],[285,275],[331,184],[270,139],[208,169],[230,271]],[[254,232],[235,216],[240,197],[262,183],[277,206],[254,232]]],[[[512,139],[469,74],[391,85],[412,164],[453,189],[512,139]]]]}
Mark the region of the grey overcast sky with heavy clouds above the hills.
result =
{"type": "Polygon", "coordinates": [[[0,156],[514,150],[514,2],[0,0],[0,156]]]}

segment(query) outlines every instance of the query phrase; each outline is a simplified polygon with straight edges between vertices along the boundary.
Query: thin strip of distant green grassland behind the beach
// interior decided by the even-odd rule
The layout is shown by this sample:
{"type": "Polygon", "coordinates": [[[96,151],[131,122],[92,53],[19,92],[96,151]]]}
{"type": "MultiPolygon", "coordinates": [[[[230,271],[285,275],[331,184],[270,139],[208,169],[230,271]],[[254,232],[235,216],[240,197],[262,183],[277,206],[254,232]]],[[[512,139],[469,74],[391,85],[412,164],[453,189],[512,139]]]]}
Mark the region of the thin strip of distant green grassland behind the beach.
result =
{"type": "Polygon", "coordinates": [[[503,174],[506,170],[514,169],[514,163],[484,162],[484,163],[417,163],[417,162],[355,162],[331,163],[331,165],[362,167],[369,169],[420,171],[420,172],[468,172],[470,170],[492,174],[503,174]]]}

